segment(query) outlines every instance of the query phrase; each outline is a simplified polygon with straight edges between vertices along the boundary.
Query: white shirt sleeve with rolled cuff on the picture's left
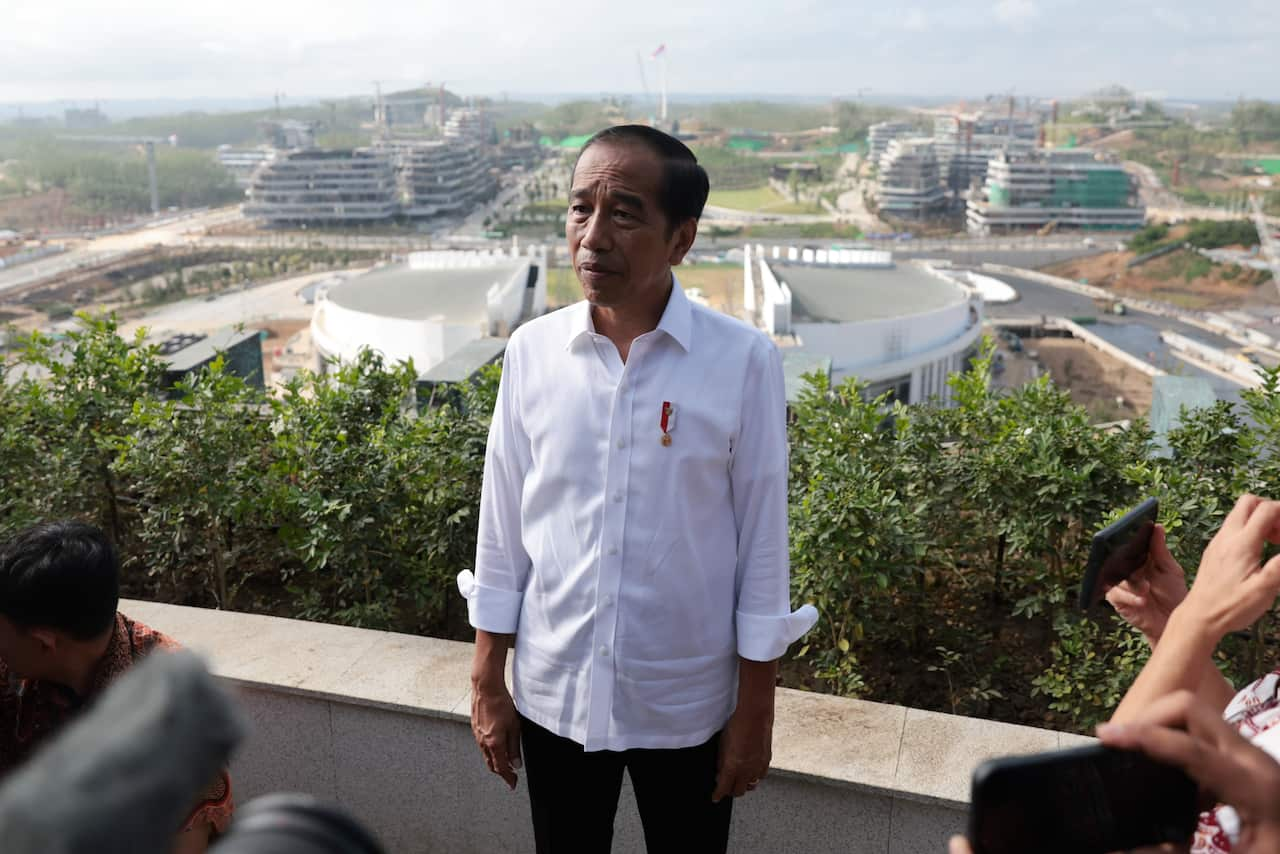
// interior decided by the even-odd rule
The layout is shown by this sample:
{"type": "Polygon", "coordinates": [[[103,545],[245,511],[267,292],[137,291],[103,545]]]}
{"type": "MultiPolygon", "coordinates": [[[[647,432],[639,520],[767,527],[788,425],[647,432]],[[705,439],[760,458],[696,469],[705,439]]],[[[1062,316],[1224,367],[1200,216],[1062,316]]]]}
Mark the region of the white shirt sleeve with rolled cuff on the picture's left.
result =
{"type": "Polygon", "coordinates": [[[475,574],[458,574],[458,590],[467,599],[471,625],[495,634],[516,631],[530,567],[521,539],[520,507],[532,457],[520,421],[517,353],[513,338],[503,359],[485,447],[475,574]]]}

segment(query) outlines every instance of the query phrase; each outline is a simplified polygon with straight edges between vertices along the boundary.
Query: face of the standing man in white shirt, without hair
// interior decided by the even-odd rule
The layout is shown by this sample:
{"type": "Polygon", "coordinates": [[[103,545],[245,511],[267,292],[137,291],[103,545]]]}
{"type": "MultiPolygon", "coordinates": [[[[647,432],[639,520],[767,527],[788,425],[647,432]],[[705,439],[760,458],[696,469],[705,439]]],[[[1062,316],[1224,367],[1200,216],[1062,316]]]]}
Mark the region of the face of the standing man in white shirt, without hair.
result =
{"type": "Polygon", "coordinates": [[[564,237],[593,306],[650,305],[689,251],[696,224],[667,222],[662,177],[662,160],[643,145],[596,143],[579,159],[564,237]]]}

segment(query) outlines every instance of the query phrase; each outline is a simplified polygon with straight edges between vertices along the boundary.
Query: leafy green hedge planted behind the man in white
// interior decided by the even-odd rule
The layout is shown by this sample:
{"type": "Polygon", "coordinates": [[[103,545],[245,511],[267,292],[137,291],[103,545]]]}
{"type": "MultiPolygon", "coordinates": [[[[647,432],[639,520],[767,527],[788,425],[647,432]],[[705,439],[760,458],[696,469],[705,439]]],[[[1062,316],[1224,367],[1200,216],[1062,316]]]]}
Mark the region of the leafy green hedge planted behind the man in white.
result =
{"type": "MultiPolygon", "coordinates": [[[[1146,424],[1098,430],[1047,378],[993,389],[988,357],[952,378],[950,408],[817,378],[794,406],[794,593],[822,620],[786,679],[1084,729],[1146,657],[1073,607],[1092,533],[1157,495],[1193,570],[1235,495],[1280,494],[1280,380],[1189,414],[1157,457],[1146,424]]],[[[0,536],[87,517],[132,595],[467,636],[453,577],[474,560],[498,369],[421,416],[412,367],[374,355],[268,397],[215,365],[169,399],[154,350],[83,319],[6,370],[0,536]]],[[[1268,670],[1274,635],[1268,617],[1230,640],[1222,667],[1268,670]]]]}

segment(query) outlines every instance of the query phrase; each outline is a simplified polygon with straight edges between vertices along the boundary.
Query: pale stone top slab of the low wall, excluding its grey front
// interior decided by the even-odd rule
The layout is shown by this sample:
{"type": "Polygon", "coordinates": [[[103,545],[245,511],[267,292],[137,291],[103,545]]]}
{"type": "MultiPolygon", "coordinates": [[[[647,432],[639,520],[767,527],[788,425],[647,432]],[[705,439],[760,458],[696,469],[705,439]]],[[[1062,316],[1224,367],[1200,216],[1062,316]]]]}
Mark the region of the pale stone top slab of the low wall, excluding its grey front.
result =
{"type": "MultiPolygon", "coordinates": [[[[230,682],[466,723],[471,645],[323,622],[123,600],[120,609],[205,656],[230,682]]],[[[1092,739],[902,705],[780,689],[773,772],[965,808],[992,757],[1092,739]]]]}

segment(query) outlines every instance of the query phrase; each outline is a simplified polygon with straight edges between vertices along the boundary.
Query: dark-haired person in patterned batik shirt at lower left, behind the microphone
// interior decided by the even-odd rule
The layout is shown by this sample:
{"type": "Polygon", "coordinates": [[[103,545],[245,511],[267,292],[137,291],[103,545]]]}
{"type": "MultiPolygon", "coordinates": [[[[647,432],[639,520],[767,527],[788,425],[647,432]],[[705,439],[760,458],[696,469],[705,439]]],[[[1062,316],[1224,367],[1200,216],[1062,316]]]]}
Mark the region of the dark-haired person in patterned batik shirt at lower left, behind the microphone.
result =
{"type": "MultiPolygon", "coordinates": [[[[119,557],[92,525],[37,525],[0,548],[0,782],[142,658],[178,648],[118,604],[119,557]]],[[[223,771],[173,828],[175,854],[205,851],[232,810],[223,771]]]]}

